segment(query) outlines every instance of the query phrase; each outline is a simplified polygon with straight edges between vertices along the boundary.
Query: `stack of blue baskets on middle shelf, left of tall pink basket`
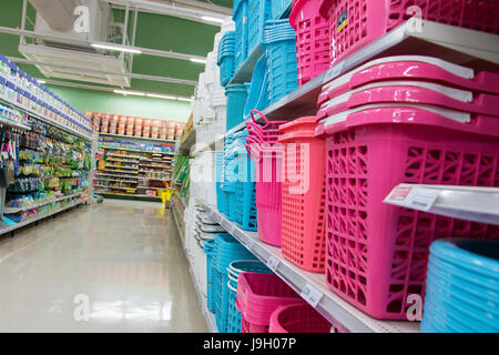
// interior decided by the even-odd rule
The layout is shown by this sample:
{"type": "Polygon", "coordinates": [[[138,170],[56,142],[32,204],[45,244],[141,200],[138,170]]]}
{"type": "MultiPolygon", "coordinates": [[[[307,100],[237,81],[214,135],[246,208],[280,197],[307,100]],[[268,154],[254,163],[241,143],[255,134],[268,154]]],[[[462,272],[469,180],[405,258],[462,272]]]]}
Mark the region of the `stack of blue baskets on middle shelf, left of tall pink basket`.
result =
{"type": "Polygon", "coordinates": [[[246,231],[256,231],[255,164],[246,151],[247,131],[230,133],[224,145],[224,183],[222,192],[230,221],[246,231]]]}

